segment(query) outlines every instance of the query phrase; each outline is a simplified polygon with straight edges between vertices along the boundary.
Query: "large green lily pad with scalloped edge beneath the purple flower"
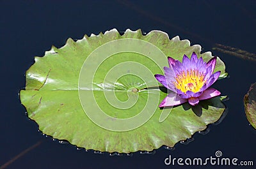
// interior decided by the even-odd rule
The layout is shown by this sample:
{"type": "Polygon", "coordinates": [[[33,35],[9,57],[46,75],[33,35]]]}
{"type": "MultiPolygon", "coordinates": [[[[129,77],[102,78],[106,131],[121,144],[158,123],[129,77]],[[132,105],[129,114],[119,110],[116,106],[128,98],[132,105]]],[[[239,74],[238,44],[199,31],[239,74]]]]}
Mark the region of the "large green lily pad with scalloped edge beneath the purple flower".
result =
{"type": "MultiPolygon", "coordinates": [[[[69,38],[64,47],[35,57],[20,100],[43,133],[77,147],[125,153],[173,147],[218,121],[225,110],[220,97],[200,101],[200,114],[186,104],[158,107],[167,93],[154,75],[163,74],[167,56],[181,61],[196,52],[205,61],[212,58],[200,51],[200,45],[190,46],[179,36],[170,40],[161,31],[143,35],[127,29],[121,36],[112,29],[78,41],[69,38]]],[[[220,58],[214,71],[227,77],[220,58]]]]}

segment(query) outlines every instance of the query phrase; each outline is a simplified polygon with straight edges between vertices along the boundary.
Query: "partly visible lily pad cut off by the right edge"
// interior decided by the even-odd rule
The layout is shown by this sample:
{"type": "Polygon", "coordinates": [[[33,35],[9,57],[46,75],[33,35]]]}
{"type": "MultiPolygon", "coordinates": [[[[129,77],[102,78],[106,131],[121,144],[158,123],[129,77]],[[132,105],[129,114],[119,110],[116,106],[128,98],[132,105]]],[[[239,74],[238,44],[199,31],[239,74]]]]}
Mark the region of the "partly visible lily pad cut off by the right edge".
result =
{"type": "Polygon", "coordinates": [[[248,121],[256,129],[256,83],[251,85],[244,96],[244,109],[248,121]]]}

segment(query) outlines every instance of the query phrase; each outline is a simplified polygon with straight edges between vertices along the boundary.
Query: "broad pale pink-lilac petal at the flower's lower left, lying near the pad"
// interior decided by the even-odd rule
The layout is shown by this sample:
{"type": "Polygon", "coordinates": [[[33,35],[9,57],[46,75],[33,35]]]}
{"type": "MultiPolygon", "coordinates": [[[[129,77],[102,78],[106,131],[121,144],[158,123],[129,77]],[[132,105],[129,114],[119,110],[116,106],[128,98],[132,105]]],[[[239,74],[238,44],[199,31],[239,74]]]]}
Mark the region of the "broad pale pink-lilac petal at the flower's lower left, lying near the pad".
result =
{"type": "Polygon", "coordinates": [[[175,105],[180,105],[187,102],[188,99],[182,99],[179,96],[176,96],[175,92],[170,92],[163,101],[160,103],[159,107],[172,107],[175,105]]]}

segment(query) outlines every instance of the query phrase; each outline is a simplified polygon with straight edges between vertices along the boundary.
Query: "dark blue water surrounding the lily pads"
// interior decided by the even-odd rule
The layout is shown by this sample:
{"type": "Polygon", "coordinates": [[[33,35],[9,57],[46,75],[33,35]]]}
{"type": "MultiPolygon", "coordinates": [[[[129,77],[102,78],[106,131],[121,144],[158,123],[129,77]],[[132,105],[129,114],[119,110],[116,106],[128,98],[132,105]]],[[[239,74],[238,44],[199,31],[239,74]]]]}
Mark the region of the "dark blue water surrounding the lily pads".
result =
{"type": "MultiPolygon", "coordinates": [[[[255,53],[255,1],[0,1],[1,118],[0,166],[31,145],[42,143],[7,168],[173,168],[164,159],[223,156],[253,160],[256,165],[256,131],[244,114],[243,96],[256,82],[256,62],[212,50],[221,43],[255,53]],[[217,126],[210,125],[206,135],[198,133],[193,142],[177,143],[175,150],[161,148],[153,154],[109,156],[52,141],[38,132],[20,105],[19,90],[25,86],[24,73],[35,55],[44,55],[51,45],[61,47],[67,38],[81,39],[116,28],[157,29],[192,44],[203,52],[211,50],[226,64],[230,78],[218,80],[214,87],[230,100],[228,114],[217,126]]],[[[177,168],[179,168],[176,165],[177,168]]],[[[205,168],[212,166],[205,166],[205,168]]],[[[181,168],[181,167],[180,167],[181,168]]],[[[198,168],[192,166],[191,168],[198,168]]],[[[218,168],[218,166],[214,166],[218,168]]],[[[252,167],[251,167],[252,168],[252,167]]]]}

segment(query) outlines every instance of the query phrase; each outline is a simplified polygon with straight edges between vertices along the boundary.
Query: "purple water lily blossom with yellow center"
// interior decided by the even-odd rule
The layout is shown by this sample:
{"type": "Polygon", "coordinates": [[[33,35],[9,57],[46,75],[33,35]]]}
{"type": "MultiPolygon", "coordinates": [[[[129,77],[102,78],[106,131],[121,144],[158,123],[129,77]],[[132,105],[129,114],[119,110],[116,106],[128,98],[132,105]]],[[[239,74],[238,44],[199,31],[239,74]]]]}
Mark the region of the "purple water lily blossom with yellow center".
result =
{"type": "Polygon", "coordinates": [[[155,75],[156,79],[170,90],[159,107],[180,105],[189,102],[197,105],[200,100],[220,95],[220,91],[211,88],[220,76],[220,71],[213,73],[217,57],[204,62],[195,52],[191,59],[184,55],[182,62],[168,57],[169,68],[164,67],[164,75],[155,75]],[[213,74],[212,74],[213,73],[213,74]]]}

